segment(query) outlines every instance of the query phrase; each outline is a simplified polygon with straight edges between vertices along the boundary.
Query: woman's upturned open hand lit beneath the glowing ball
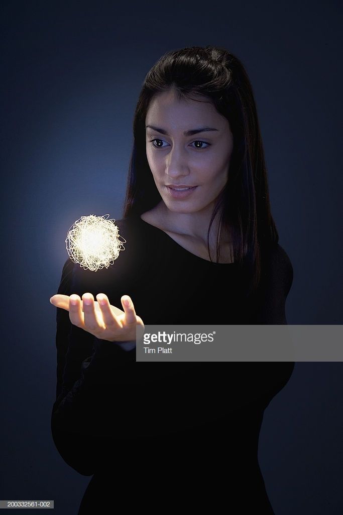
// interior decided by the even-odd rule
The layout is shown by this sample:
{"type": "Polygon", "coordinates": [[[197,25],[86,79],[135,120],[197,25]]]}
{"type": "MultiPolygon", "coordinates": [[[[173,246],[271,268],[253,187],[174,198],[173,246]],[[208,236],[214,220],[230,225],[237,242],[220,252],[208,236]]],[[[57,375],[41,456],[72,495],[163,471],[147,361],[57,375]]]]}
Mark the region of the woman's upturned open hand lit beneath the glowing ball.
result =
{"type": "Polygon", "coordinates": [[[91,293],[84,293],[82,300],[76,294],[53,295],[51,304],[69,311],[70,322],[101,340],[132,341],[136,340],[136,327],[144,329],[143,321],[136,315],[131,298],[121,297],[124,311],[112,306],[105,294],[98,294],[97,301],[91,293]]]}

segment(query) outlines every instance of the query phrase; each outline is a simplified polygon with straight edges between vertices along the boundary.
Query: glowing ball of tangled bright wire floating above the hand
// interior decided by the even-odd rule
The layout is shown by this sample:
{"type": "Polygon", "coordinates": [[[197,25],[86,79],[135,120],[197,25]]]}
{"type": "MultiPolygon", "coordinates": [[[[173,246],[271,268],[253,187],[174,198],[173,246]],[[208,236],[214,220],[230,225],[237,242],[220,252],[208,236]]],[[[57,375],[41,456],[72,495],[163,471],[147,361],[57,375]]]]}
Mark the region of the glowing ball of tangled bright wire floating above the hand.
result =
{"type": "Polygon", "coordinates": [[[65,243],[69,257],[84,269],[109,268],[118,258],[119,251],[124,250],[122,244],[126,242],[119,236],[115,220],[105,216],[110,215],[81,216],[68,231],[65,243]]]}

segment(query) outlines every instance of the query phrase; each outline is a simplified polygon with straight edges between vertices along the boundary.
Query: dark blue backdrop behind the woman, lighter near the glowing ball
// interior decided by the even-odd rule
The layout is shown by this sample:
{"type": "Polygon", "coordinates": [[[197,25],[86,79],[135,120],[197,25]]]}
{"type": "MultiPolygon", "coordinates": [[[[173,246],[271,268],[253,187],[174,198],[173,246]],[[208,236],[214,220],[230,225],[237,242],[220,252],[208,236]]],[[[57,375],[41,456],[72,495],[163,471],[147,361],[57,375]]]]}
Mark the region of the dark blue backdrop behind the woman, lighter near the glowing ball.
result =
{"type": "MultiPolygon", "coordinates": [[[[251,79],[270,199],[294,267],[290,324],[341,324],[339,2],[8,2],[2,10],[0,499],[74,515],[90,477],[50,434],[64,240],[120,218],[145,74],[167,50],[224,46],[251,79]]],[[[342,512],[341,363],[297,363],[265,411],[259,458],[277,515],[342,512]]],[[[85,450],[86,451],[86,450],[85,450]]],[[[129,478],[130,480],[130,478],[129,478]]],[[[137,480],[133,471],[133,491],[137,480]]]]}

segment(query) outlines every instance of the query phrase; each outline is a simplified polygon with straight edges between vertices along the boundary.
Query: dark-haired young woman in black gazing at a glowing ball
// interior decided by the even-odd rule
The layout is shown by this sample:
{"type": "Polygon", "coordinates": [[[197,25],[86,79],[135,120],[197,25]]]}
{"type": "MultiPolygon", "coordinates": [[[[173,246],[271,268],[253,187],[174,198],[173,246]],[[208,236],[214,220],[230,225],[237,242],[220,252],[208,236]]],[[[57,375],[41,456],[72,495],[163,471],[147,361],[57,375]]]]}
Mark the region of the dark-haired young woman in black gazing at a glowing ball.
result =
{"type": "Polygon", "coordinates": [[[68,465],[93,474],[79,515],[129,508],[133,492],[159,513],[273,513],[258,438],[294,363],[135,362],[137,324],[287,323],[293,268],[242,63],[213,46],[167,53],[143,82],[133,128],[117,221],[125,250],[97,273],[68,259],[50,299],[52,435],[68,465]]]}

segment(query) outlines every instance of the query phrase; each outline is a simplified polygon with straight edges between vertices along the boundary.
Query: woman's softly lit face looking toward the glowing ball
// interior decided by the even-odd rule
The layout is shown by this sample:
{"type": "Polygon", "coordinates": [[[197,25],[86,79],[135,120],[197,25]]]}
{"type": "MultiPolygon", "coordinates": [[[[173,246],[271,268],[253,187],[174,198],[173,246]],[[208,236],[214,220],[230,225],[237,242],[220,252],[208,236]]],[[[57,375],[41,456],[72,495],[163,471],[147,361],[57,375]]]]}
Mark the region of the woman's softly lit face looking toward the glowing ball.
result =
{"type": "Polygon", "coordinates": [[[158,93],[146,116],[148,163],[164,203],[177,213],[212,209],[233,149],[227,119],[208,98],[194,98],[202,101],[178,100],[173,90],[158,93]]]}

